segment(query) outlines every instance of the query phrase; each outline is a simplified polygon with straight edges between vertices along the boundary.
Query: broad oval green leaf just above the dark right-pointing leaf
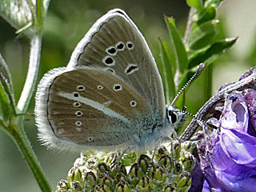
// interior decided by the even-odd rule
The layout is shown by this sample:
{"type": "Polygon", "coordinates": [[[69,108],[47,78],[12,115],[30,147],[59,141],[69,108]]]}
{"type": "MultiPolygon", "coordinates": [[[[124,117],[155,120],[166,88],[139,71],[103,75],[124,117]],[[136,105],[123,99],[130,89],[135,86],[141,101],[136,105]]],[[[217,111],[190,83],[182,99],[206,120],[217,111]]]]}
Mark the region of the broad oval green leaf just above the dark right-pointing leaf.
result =
{"type": "Polygon", "coordinates": [[[217,23],[218,20],[212,20],[192,30],[188,39],[190,50],[200,50],[205,46],[209,46],[217,34],[217,23]]]}

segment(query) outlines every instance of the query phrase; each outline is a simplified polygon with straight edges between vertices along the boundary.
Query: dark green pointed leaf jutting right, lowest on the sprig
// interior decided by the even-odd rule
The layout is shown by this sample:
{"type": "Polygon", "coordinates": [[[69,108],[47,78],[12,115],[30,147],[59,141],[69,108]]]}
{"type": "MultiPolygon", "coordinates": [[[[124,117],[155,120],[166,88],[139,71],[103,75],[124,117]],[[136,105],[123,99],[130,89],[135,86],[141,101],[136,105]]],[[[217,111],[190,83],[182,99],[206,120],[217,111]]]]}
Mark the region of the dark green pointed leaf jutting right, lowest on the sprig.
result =
{"type": "Polygon", "coordinates": [[[199,50],[189,58],[189,69],[198,66],[201,62],[212,62],[219,54],[228,50],[238,38],[226,38],[222,41],[215,42],[213,45],[206,47],[206,49],[199,50]]]}

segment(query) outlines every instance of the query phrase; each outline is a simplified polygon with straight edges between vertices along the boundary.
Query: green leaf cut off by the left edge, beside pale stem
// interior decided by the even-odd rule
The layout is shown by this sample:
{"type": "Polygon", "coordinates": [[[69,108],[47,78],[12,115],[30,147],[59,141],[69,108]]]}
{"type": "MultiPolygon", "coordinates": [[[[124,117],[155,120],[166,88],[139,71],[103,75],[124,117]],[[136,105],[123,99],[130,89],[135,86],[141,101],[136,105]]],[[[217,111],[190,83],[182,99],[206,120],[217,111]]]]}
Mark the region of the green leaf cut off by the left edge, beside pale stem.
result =
{"type": "Polygon", "coordinates": [[[0,120],[7,122],[14,109],[14,89],[10,71],[0,54],[0,120]]]}

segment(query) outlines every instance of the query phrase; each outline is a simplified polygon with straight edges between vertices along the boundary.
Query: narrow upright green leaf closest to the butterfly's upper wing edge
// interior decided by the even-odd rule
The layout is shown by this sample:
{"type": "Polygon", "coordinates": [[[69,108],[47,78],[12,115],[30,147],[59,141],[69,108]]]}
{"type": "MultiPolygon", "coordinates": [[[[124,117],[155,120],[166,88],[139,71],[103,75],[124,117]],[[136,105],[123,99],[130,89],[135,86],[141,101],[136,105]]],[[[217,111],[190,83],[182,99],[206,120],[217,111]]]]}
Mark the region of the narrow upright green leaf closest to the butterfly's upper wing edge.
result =
{"type": "Polygon", "coordinates": [[[159,64],[160,74],[162,76],[163,86],[165,88],[166,104],[170,104],[170,102],[174,99],[175,96],[174,76],[172,71],[172,64],[174,63],[171,62],[170,58],[168,57],[169,51],[166,42],[163,42],[159,38],[159,44],[161,58],[161,64],[159,64]]]}

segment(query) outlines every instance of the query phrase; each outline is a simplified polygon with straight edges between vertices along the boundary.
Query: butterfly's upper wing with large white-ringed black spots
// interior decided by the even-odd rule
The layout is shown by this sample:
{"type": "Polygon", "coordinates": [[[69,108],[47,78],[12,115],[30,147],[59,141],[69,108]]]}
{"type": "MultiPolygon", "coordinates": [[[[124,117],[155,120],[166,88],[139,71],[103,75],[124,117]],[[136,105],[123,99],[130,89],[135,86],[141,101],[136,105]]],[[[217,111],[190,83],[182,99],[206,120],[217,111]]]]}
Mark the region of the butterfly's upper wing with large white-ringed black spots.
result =
{"type": "Polygon", "coordinates": [[[150,103],[154,117],[165,117],[162,82],[138,28],[122,10],[112,10],[78,44],[69,66],[103,70],[121,78],[150,103]]]}

